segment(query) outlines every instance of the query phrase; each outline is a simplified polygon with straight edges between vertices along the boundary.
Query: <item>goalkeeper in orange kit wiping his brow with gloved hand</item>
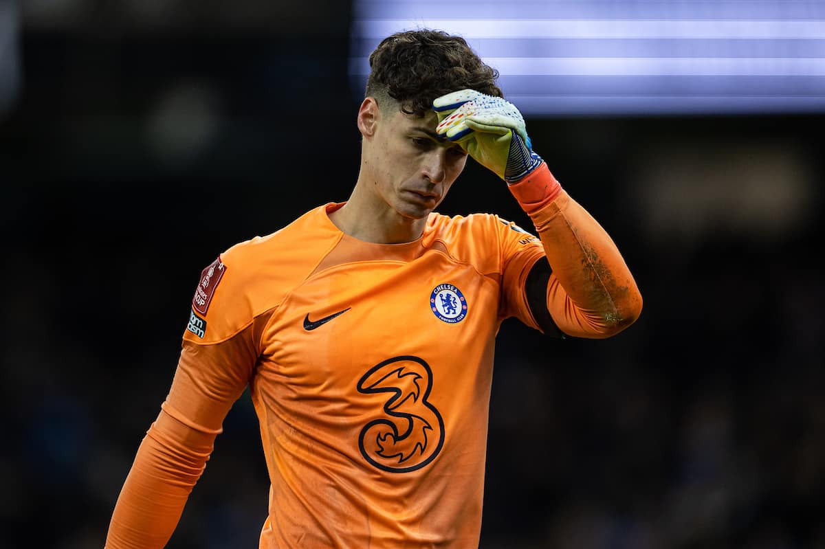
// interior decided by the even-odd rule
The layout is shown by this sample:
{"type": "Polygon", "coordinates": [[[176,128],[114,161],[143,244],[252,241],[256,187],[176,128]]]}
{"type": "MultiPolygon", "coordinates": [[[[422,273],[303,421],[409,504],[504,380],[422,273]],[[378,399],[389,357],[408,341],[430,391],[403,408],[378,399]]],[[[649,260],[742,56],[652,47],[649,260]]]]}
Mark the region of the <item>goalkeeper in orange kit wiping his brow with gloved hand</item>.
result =
{"type": "Polygon", "coordinates": [[[247,386],[271,480],[260,547],[478,547],[502,321],[605,338],[639,317],[614,242],[462,38],[391,35],[370,67],[347,202],[238,243],[201,273],[106,547],[167,543],[247,386]],[[468,156],[508,185],[535,232],[434,212],[468,156]]]}

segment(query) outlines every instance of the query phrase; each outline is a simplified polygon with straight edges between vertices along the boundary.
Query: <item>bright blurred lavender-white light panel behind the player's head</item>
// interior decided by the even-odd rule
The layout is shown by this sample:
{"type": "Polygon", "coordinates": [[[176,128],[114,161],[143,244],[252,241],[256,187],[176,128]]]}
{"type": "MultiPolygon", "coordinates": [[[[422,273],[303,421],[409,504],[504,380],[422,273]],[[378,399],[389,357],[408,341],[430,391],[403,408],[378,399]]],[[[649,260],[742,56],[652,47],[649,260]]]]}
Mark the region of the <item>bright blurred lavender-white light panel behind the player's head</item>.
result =
{"type": "Polygon", "coordinates": [[[530,115],[825,112],[821,0],[356,0],[351,83],[397,30],[463,35],[530,115]]]}

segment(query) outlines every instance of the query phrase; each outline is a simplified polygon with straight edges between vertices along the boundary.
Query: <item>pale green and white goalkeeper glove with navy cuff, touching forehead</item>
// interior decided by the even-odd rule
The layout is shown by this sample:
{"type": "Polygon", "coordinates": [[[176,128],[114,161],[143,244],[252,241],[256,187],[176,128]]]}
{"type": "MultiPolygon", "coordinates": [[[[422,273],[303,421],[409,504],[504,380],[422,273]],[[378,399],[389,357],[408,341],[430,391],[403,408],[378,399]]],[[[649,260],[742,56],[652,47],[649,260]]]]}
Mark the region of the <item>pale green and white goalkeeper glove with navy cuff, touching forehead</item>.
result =
{"type": "Polygon", "coordinates": [[[460,90],[438,97],[432,109],[438,116],[439,137],[459,143],[476,162],[508,184],[523,179],[543,162],[532,151],[521,113],[502,97],[460,90]]]}

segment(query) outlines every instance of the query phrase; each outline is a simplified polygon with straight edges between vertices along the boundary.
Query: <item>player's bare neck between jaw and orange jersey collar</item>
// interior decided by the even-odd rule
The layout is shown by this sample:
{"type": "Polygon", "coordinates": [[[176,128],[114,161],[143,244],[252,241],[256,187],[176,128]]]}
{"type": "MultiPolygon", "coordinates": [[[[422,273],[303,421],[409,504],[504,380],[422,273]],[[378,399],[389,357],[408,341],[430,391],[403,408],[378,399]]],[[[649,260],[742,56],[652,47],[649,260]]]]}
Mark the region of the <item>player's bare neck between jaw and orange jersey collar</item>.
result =
{"type": "Polygon", "coordinates": [[[365,187],[359,177],[347,204],[330,213],[337,228],[358,240],[377,244],[402,244],[421,237],[427,225],[426,216],[404,217],[365,187]]]}

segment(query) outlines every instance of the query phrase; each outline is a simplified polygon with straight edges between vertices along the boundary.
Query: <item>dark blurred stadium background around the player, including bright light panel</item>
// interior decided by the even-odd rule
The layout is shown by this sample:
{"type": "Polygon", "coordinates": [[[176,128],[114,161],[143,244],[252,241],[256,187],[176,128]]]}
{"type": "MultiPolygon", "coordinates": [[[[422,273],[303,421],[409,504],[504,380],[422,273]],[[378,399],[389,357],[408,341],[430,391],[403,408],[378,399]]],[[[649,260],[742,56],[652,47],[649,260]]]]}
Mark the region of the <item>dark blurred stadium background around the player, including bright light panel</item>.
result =
{"type": "MultiPolygon", "coordinates": [[[[502,69],[641,319],[497,347],[484,549],[825,547],[825,5],[0,0],[0,547],[102,547],[200,270],[346,199],[364,57],[502,69]]],[[[469,165],[443,213],[526,224],[469,165]]],[[[257,547],[244,395],[168,547],[257,547]]]]}

